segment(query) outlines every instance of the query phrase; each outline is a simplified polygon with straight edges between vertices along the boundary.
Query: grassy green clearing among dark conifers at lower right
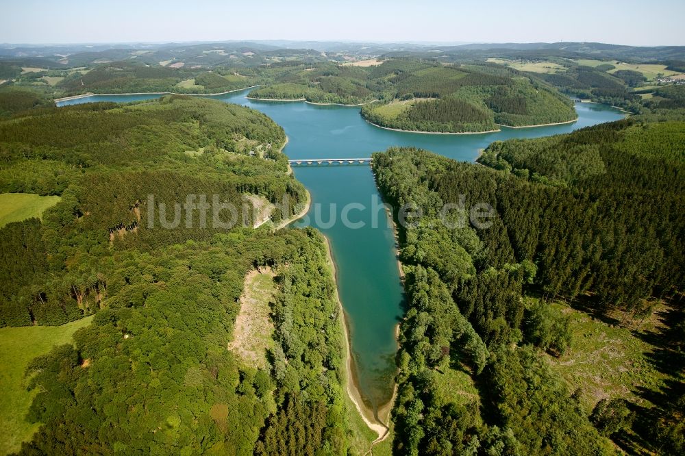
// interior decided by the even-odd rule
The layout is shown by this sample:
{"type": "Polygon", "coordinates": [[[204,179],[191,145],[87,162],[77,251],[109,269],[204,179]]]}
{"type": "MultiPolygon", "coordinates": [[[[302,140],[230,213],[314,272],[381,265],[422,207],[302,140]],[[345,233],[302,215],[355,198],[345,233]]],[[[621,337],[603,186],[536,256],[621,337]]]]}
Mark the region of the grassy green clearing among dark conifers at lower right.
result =
{"type": "MultiPolygon", "coordinates": [[[[630,329],[608,325],[566,305],[552,304],[571,317],[571,349],[560,358],[549,357],[552,369],[568,383],[580,388],[580,401],[590,413],[600,399],[628,398],[640,405],[638,387],[658,390],[666,376],[648,359],[653,347],[630,329]]],[[[658,325],[658,319],[648,322],[658,325]]],[[[643,330],[649,328],[644,325],[643,330]]]]}

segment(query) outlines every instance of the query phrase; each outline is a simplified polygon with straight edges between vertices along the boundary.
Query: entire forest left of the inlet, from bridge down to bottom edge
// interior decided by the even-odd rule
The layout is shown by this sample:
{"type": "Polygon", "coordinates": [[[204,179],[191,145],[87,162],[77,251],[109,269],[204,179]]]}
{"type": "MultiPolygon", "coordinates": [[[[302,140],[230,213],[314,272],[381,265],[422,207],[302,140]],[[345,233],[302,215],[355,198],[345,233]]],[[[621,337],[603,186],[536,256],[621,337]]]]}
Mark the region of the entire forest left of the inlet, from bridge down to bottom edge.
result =
{"type": "Polygon", "coordinates": [[[75,346],[29,365],[27,420],[42,425],[21,454],[347,453],[345,346],[321,235],[252,229],[251,206],[232,226],[186,225],[188,213],[176,227],[149,223],[160,207],[148,194],[171,207],[186,194],[238,207],[286,197],[271,218],[291,216],[306,194],[281,127],[173,95],[34,107],[1,122],[0,138],[3,192],[62,197],[42,221],[0,229],[1,324],[95,314],[75,346]],[[245,275],[264,267],[276,292],[260,367],[227,344],[245,275]]]}

